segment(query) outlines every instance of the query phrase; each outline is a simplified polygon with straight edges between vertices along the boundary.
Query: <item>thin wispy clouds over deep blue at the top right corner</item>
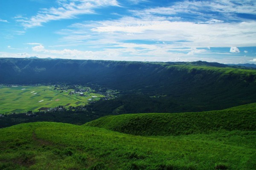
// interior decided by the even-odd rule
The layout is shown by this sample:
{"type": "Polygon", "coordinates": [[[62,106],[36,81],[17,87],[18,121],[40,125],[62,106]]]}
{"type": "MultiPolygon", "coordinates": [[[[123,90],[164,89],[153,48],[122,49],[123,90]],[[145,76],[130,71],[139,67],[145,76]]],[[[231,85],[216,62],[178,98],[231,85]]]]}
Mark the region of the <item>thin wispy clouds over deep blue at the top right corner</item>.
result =
{"type": "Polygon", "coordinates": [[[144,10],[131,10],[136,16],[167,15],[175,16],[180,20],[206,21],[218,20],[239,20],[239,14],[256,15],[255,0],[185,0],[178,1],[171,6],[146,8],[144,10]]]}

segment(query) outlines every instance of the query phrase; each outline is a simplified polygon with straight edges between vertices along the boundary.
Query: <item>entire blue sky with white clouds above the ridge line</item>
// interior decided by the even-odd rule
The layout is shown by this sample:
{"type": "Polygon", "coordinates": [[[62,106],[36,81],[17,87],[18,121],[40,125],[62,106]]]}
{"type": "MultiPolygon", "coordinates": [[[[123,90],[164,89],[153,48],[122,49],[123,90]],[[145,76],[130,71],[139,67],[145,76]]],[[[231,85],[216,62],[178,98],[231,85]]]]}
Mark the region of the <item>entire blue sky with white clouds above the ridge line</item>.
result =
{"type": "Polygon", "coordinates": [[[256,64],[256,0],[0,0],[0,57],[256,64]]]}

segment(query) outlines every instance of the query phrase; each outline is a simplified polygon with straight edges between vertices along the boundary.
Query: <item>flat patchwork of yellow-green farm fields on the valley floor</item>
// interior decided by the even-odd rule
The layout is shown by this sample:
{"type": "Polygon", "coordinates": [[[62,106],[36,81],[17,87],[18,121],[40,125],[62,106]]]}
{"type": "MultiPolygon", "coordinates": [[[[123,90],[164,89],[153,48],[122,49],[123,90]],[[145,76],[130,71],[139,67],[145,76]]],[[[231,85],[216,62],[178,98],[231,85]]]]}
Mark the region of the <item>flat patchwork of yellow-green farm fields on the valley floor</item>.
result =
{"type": "Polygon", "coordinates": [[[86,105],[90,101],[99,100],[103,95],[92,93],[91,90],[79,94],[69,95],[73,89],[60,93],[54,90],[54,86],[17,86],[0,87],[0,114],[24,113],[27,111],[39,111],[40,108],[54,108],[62,105],[69,106],[86,105]]]}

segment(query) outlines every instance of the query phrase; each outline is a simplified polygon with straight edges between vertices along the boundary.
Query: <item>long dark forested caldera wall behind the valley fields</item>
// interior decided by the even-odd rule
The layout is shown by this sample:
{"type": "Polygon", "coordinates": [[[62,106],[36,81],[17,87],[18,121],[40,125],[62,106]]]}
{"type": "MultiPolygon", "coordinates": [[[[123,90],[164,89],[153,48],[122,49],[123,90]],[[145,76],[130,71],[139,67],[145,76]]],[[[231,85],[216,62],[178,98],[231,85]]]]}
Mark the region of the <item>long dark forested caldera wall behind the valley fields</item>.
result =
{"type": "Polygon", "coordinates": [[[0,83],[47,82],[90,82],[127,95],[92,105],[96,112],[209,111],[256,102],[256,70],[219,63],[0,59],[0,83]]]}

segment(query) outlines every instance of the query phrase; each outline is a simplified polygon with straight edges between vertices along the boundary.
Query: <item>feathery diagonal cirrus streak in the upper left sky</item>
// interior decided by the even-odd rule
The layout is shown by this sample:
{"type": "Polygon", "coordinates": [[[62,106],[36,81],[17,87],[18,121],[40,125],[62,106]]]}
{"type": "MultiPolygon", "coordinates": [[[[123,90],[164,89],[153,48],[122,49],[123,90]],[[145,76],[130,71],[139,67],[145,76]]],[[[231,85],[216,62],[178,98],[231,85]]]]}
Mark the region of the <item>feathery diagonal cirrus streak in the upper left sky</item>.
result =
{"type": "Polygon", "coordinates": [[[30,18],[17,16],[24,28],[42,26],[52,20],[76,18],[81,14],[93,14],[94,9],[104,6],[119,6],[116,0],[58,0],[58,8],[44,8],[30,18]]]}

